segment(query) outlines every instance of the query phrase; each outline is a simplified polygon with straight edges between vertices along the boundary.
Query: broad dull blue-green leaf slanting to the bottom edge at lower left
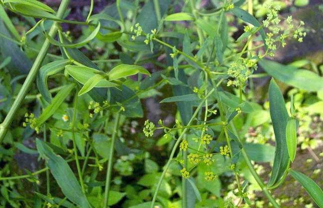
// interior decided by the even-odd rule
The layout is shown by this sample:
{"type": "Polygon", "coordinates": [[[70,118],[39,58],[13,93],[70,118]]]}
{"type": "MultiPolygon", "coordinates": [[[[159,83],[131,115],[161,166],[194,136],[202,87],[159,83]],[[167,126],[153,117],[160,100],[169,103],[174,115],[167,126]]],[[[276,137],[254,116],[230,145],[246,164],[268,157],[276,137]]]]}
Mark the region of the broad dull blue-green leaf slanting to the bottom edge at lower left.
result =
{"type": "Polygon", "coordinates": [[[39,139],[36,139],[37,150],[46,160],[52,175],[60,186],[63,194],[81,208],[90,208],[86,196],[81,191],[81,186],[76,179],[69,164],[39,139]]]}

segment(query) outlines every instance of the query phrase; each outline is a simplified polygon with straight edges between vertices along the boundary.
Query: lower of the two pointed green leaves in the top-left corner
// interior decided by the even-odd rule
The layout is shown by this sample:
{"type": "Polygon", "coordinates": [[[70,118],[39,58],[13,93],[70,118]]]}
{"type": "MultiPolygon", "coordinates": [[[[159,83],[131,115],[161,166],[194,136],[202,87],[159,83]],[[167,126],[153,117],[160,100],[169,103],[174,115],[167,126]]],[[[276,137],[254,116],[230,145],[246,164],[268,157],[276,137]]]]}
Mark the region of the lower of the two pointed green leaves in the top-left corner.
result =
{"type": "Polygon", "coordinates": [[[25,15],[25,16],[31,16],[31,17],[36,17],[36,18],[41,18],[41,19],[51,19],[51,20],[59,20],[54,14],[51,14],[47,11],[44,11],[42,9],[39,9],[39,7],[36,6],[31,6],[31,5],[25,5],[22,3],[15,3],[13,5],[14,11],[25,15]]]}

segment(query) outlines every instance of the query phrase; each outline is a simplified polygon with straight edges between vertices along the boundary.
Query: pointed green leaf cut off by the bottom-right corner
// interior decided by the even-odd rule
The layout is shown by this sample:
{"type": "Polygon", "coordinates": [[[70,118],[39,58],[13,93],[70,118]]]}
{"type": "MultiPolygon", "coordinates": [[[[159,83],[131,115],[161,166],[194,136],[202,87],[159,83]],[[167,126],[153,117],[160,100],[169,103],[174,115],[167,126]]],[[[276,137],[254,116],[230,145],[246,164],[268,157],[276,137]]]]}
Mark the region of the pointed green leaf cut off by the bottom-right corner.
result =
{"type": "Polygon", "coordinates": [[[295,178],[298,182],[300,182],[305,188],[305,190],[312,197],[314,202],[320,208],[323,208],[323,191],[320,188],[320,186],[316,184],[311,178],[296,170],[290,169],[289,174],[293,176],[293,178],[295,178]]]}

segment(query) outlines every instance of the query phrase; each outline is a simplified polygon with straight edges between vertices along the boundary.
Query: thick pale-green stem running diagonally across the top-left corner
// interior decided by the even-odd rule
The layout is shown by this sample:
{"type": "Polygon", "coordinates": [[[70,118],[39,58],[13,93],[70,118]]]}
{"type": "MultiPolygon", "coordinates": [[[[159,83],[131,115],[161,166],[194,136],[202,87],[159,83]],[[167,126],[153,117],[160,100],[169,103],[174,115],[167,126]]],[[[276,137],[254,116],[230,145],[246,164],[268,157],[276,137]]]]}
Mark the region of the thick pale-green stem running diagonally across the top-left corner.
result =
{"type": "MultiPolygon", "coordinates": [[[[63,18],[63,15],[68,7],[70,0],[62,0],[61,5],[57,11],[57,18],[63,18]]],[[[50,31],[49,31],[49,36],[50,37],[54,37],[55,34],[57,33],[58,30],[58,24],[57,22],[54,22],[54,24],[52,25],[50,31]]],[[[34,64],[32,65],[29,74],[25,80],[25,82],[23,83],[16,100],[13,102],[8,114],[6,115],[6,117],[4,118],[3,122],[0,124],[0,144],[2,143],[2,140],[4,138],[4,136],[6,135],[8,128],[10,126],[10,124],[12,123],[13,117],[16,113],[16,111],[19,109],[20,104],[22,103],[22,101],[24,100],[25,96],[28,93],[28,90],[30,88],[30,85],[34,82],[35,77],[38,73],[38,70],[46,56],[46,53],[49,49],[50,43],[49,41],[46,39],[44,41],[44,44],[42,46],[42,48],[40,49],[34,64]]]]}

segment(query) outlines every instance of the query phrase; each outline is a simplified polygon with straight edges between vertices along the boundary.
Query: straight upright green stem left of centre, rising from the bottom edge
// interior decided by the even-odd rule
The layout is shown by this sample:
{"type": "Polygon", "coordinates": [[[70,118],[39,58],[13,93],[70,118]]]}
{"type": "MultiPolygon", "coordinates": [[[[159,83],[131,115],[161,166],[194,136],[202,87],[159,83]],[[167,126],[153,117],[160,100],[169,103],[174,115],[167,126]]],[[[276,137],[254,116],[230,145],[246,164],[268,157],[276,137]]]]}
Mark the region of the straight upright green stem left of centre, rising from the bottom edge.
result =
{"type": "Polygon", "coordinates": [[[118,131],[119,117],[120,117],[120,113],[117,113],[116,118],[114,120],[113,132],[111,137],[110,155],[109,155],[109,161],[106,169],[106,178],[105,178],[104,208],[108,207],[108,198],[109,198],[109,191],[110,191],[112,162],[113,162],[112,160],[113,160],[115,139],[118,131]]]}

